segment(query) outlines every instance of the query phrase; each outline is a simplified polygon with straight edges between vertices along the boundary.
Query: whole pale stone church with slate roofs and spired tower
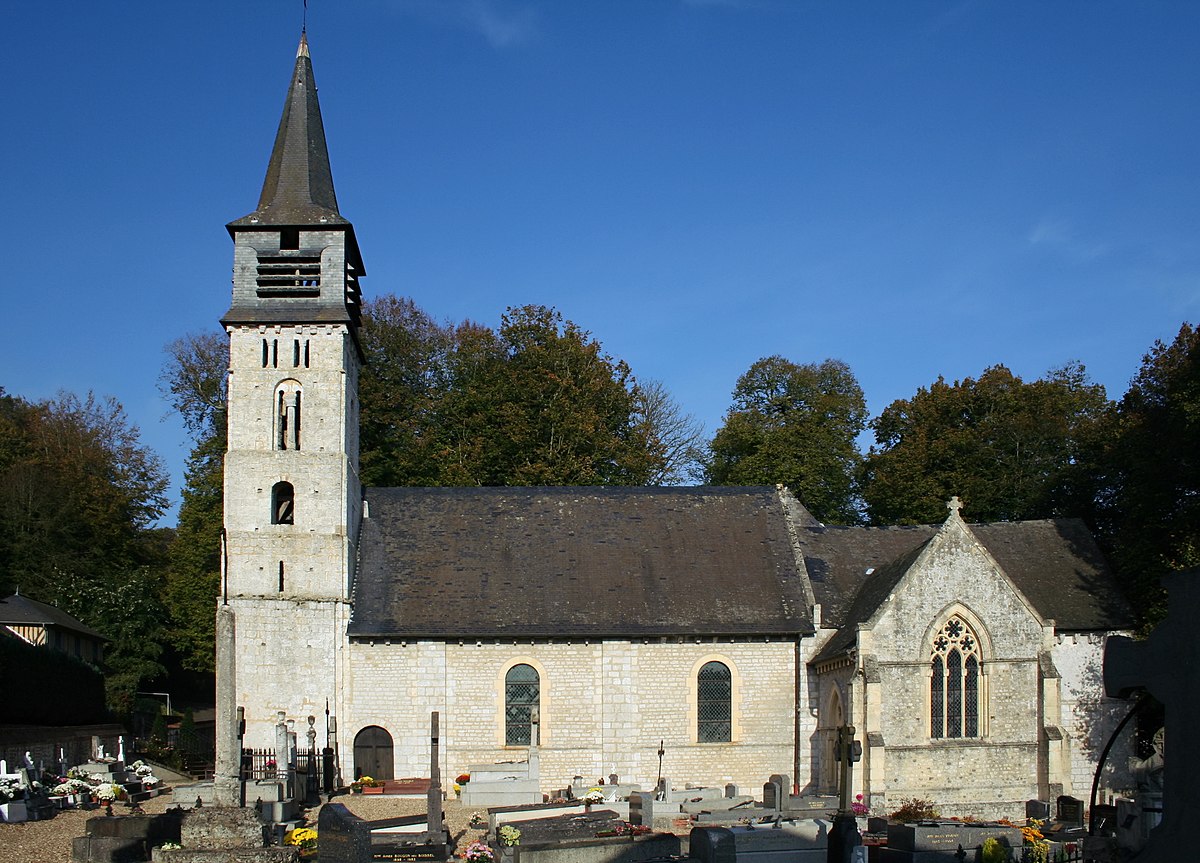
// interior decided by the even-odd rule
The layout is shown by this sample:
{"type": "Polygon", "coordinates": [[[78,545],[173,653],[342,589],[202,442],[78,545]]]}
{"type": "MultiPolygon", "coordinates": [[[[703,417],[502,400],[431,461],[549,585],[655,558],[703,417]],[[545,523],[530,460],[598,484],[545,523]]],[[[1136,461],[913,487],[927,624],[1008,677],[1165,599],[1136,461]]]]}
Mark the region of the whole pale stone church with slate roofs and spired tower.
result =
{"type": "MultiPolygon", "coordinates": [[[[247,747],[330,717],[341,773],[520,761],[544,791],[836,789],[874,813],[1021,816],[1086,797],[1130,613],[1081,522],[828,527],[784,487],[364,489],[360,282],[301,37],[266,179],[234,245],[222,687],[247,747]],[[660,751],[662,750],[661,760],[660,751]]],[[[220,702],[218,702],[220,703],[220,702]]],[[[1118,777],[1105,781],[1115,785],[1118,777]]]]}

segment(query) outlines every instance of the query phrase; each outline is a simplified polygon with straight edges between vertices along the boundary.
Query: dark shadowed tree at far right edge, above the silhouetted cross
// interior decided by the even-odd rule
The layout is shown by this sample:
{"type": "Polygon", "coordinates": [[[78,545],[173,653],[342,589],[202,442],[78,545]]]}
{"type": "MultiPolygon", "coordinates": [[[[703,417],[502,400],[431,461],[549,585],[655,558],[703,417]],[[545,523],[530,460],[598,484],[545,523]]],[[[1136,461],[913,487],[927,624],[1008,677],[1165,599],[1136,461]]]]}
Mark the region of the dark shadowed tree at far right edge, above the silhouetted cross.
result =
{"type": "Polygon", "coordinates": [[[1200,567],[1200,326],[1154,342],[1117,406],[1097,479],[1098,527],[1142,624],[1162,576],[1200,567]]]}

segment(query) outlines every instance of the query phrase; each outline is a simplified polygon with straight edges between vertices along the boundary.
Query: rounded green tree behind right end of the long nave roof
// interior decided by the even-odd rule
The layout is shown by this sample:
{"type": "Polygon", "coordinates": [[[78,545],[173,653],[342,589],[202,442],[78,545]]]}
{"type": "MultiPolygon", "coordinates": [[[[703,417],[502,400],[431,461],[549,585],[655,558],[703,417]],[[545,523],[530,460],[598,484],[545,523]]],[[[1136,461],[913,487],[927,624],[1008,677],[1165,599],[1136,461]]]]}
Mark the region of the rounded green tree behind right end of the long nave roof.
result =
{"type": "Polygon", "coordinates": [[[862,455],[854,439],[865,424],[866,401],[845,362],[763,358],[738,378],[733,406],[709,444],[707,480],[782,483],[817,519],[857,522],[862,455]]]}

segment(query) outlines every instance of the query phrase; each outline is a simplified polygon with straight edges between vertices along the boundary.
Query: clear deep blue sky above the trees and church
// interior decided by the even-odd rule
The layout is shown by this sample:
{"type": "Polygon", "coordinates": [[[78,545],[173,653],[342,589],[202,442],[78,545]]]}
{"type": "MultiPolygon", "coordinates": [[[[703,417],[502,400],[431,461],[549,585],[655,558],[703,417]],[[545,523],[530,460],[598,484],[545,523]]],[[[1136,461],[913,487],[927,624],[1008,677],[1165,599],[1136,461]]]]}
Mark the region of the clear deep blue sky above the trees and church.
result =
{"type": "MultiPolygon", "coordinates": [[[[871,413],[1200,320],[1200,4],[312,0],[371,296],[558,307],[712,433],[760,356],[871,413]]],[[[162,348],[227,308],[300,0],[12,4],[0,385],[116,396],[176,487],[162,348]]],[[[173,516],[166,520],[173,521],[173,516]]]]}

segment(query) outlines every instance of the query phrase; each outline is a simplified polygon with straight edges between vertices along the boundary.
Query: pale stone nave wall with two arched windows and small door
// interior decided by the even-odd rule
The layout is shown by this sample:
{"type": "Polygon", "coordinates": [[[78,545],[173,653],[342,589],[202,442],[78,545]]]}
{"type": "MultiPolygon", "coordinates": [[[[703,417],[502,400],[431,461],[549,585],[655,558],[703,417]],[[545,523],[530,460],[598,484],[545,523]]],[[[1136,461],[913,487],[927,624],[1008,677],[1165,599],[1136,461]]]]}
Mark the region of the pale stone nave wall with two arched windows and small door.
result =
{"type": "Polygon", "coordinates": [[[378,725],[395,745],[396,775],[428,774],[428,717],[442,712],[443,772],[522,760],[504,745],[504,676],[524,663],[540,677],[541,784],[576,774],[653,786],[684,781],[761,786],[793,771],[796,645],[774,642],[354,643],[342,714],[343,773],[354,735],[378,725]],[[733,677],[733,741],[696,741],[696,673],[716,659],[733,677]]]}

